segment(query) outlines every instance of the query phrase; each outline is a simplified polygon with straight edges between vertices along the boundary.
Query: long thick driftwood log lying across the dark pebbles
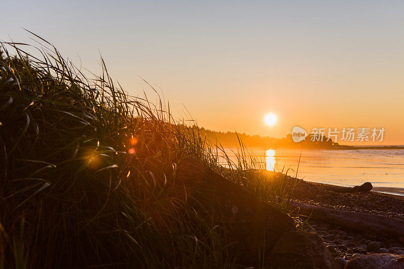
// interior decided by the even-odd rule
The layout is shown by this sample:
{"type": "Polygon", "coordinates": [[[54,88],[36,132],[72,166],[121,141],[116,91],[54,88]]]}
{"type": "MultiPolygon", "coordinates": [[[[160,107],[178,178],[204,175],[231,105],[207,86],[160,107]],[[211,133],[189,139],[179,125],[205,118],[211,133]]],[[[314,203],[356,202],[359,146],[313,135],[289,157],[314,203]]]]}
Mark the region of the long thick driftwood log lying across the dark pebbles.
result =
{"type": "Polygon", "coordinates": [[[293,202],[299,214],[337,226],[362,231],[367,234],[394,238],[404,243],[404,221],[360,212],[347,212],[293,202]]]}

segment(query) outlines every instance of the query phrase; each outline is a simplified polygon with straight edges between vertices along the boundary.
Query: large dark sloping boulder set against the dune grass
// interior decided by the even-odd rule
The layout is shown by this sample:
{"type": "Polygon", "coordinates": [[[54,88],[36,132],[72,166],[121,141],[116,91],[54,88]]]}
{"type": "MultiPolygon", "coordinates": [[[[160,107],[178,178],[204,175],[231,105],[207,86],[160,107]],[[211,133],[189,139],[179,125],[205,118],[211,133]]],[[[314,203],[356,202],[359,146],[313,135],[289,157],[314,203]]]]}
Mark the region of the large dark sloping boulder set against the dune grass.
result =
{"type": "Polygon", "coordinates": [[[229,251],[243,265],[257,265],[259,251],[272,249],[281,234],[295,229],[287,214],[198,162],[180,162],[175,175],[176,197],[223,228],[229,251]]]}

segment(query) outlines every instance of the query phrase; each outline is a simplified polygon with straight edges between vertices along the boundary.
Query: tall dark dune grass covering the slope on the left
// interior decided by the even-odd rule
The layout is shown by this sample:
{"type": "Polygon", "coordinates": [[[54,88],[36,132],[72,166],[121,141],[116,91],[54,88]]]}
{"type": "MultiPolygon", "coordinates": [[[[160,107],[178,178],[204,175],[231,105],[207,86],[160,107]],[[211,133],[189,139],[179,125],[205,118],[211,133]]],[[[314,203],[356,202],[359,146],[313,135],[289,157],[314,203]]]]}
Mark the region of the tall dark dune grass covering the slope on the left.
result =
{"type": "Polygon", "coordinates": [[[103,59],[88,78],[34,36],[39,47],[2,43],[0,55],[0,268],[237,267],[220,229],[170,187],[184,159],[288,211],[245,149],[234,162],[163,101],[127,94],[103,59]]]}

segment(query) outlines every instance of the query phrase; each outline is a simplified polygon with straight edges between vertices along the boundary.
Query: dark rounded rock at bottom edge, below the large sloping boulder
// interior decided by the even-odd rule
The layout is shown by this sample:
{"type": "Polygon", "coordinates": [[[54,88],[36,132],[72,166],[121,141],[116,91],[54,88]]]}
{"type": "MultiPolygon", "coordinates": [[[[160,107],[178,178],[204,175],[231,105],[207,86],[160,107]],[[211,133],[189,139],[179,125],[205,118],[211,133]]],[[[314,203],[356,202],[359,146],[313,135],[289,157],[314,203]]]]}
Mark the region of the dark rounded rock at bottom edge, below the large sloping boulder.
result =
{"type": "Polygon", "coordinates": [[[267,258],[270,268],[340,268],[316,233],[284,233],[267,258]]]}

